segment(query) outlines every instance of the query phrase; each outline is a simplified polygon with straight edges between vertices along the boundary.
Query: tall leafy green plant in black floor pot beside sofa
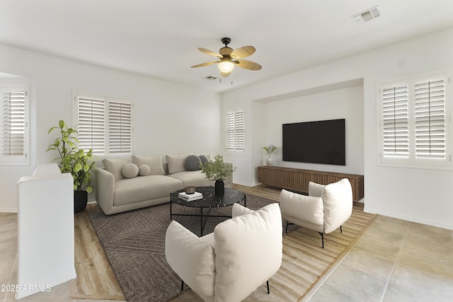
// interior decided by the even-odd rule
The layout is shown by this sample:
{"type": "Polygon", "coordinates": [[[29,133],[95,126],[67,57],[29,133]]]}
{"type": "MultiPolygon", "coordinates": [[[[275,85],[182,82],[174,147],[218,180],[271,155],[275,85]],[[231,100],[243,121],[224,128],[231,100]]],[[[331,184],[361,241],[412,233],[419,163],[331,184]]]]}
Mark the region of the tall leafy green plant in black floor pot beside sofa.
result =
{"type": "Polygon", "coordinates": [[[47,151],[57,151],[59,157],[55,158],[54,161],[59,160],[59,170],[62,173],[71,173],[72,178],[74,178],[74,213],[78,213],[84,211],[88,202],[88,193],[93,191],[91,172],[96,168],[93,161],[93,151],[90,149],[85,153],[83,149],[79,149],[77,131],[68,128],[64,120],[59,120],[58,126],[51,127],[47,134],[55,129],[59,129],[60,136],[47,147],[47,151]]]}

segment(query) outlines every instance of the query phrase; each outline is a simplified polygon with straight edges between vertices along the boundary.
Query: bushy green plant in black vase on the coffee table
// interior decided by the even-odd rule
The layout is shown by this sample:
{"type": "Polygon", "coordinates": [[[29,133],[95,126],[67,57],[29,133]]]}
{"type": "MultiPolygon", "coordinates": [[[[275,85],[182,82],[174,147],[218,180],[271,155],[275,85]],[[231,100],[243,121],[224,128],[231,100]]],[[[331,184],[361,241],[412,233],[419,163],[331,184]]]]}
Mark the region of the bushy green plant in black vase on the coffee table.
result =
{"type": "Polygon", "coordinates": [[[229,178],[236,167],[229,163],[224,163],[224,158],[220,154],[214,156],[214,161],[202,163],[201,172],[206,175],[208,180],[215,180],[214,192],[217,196],[225,194],[224,179],[229,178]]]}

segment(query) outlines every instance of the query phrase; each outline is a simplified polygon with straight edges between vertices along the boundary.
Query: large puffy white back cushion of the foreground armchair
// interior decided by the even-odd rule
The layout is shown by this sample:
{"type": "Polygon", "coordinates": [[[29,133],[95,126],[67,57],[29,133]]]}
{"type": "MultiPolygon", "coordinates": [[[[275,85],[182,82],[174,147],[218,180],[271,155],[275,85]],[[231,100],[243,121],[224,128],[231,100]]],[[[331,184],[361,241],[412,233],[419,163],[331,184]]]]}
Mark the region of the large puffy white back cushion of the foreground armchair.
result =
{"type": "Polygon", "coordinates": [[[214,228],[215,301],[242,301],[282,263],[282,216],[277,203],[214,228]]]}

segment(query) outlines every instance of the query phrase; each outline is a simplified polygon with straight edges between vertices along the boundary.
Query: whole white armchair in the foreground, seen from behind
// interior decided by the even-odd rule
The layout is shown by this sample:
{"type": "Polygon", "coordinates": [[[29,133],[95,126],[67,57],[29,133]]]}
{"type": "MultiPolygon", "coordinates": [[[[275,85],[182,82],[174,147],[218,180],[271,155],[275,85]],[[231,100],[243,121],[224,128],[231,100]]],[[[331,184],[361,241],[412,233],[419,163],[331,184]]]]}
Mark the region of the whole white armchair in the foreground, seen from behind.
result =
{"type": "Polygon", "coordinates": [[[267,282],[282,263],[282,216],[277,203],[253,211],[233,205],[233,218],[198,238],[172,221],[168,264],[204,301],[242,301],[267,282]]]}

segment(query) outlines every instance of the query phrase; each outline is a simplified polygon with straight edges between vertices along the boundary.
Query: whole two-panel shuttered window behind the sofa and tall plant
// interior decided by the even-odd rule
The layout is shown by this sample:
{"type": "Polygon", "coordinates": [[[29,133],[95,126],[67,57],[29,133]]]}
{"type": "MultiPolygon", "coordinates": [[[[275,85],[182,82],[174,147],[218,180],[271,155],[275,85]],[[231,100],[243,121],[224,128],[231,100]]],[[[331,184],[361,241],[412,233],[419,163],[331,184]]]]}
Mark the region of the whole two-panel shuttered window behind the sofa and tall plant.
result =
{"type": "Polygon", "coordinates": [[[132,154],[132,101],[76,95],[79,148],[96,156],[132,154]]]}

